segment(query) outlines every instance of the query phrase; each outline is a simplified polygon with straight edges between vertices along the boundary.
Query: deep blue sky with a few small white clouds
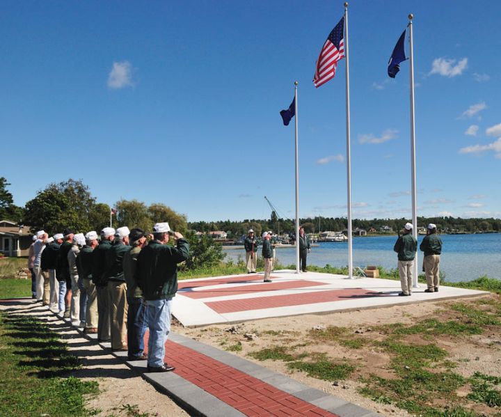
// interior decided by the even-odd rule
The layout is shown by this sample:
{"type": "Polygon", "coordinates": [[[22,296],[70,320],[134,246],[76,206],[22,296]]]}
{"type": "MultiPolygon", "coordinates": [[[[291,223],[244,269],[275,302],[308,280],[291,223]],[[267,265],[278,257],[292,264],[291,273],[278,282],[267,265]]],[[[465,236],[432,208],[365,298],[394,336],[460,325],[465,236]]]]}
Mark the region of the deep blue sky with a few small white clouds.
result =
{"type": "MultiPolygon", "coordinates": [[[[81,178],[98,201],[161,202],[189,221],[346,214],[345,60],[316,89],[342,1],[4,1],[0,175],[17,205],[81,178]]],[[[413,13],[417,214],[501,217],[497,1],[351,1],[353,217],[411,217],[413,13]],[[406,48],[408,45],[406,44],[406,48]]]]}

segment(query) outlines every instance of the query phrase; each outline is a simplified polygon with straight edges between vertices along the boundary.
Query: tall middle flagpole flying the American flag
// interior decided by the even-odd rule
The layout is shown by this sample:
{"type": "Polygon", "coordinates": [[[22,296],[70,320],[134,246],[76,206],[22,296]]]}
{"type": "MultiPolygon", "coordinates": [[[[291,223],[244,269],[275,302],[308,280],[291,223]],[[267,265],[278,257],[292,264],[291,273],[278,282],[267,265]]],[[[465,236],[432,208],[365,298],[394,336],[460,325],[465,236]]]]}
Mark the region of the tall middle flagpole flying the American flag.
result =
{"type": "Polygon", "coordinates": [[[344,3],[344,58],[346,59],[347,91],[347,189],[348,189],[348,278],[353,278],[353,235],[351,234],[351,145],[349,118],[349,52],[348,52],[348,3],[344,3]]]}

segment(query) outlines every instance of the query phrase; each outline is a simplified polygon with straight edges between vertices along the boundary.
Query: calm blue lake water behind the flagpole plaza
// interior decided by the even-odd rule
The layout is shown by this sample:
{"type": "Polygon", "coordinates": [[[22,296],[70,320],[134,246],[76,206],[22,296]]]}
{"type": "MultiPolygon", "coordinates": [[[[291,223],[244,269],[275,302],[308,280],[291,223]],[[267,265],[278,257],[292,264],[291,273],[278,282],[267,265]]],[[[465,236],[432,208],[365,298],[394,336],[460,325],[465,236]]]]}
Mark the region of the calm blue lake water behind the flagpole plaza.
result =
{"type": "MultiPolygon", "coordinates": [[[[417,237],[417,244],[423,236],[417,237]]],[[[440,235],[443,242],[440,270],[447,281],[471,281],[482,275],[501,279],[501,233],[487,235],[440,235]]],[[[386,269],[397,267],[397,253],[393,251],[396,236],[353,238],[353,265],[381,265],[386,269]]],[[[324,267],[348,265],[347,242],[321,242],[312,248],[308,264],[324,267]]],[[[261,248],[258,249],[260,254],[261,248]]],[[[227,258],[245,259],[244,249],[226,251],[227,258]]],[[[422,252],[418,251],[422,262],[422,252]]],[[[277,258],[283,265],[296,262],[294,248],[277,249],[277,258]]],[[[421,268],[420,268],[421,270],[421,268]]]]}

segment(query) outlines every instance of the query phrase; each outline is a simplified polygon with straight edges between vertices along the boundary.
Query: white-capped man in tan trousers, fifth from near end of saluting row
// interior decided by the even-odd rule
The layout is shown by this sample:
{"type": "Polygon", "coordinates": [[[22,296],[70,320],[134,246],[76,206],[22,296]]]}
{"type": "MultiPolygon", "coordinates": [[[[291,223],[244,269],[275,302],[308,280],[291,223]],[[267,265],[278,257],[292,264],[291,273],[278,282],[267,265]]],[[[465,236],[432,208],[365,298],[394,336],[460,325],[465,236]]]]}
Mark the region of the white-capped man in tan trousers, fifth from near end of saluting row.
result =
{"type": "Polygon", "coordinates": [[[86,234],[86,244],[77,258],[79,277],[87,294],[87,308],[84,333],[97,333],[97,291],[93,283],[93,251],[97,246],[97,233],[93,230],[86,234]]]}

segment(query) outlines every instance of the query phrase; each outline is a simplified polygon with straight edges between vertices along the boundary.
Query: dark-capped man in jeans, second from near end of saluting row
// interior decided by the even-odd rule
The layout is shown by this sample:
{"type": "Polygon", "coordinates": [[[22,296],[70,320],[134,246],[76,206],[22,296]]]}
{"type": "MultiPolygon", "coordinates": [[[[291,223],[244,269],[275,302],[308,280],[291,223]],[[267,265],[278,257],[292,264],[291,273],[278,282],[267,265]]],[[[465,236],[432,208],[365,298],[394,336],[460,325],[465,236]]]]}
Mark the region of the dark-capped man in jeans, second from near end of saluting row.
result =
{"type": "Polygon", "coordinates": [[[133,228],[129,234],[129,244],[132,249],[125,253],[123,269],[125,283],[127,283],[127,342],[129,346],[129,361],[142,361],[144,354],[144,334],[146,330],[145,305],[143,292],[138,287],[134,274],[136,273],[137,258],[146,244],[145,231],[133,228]]]}

